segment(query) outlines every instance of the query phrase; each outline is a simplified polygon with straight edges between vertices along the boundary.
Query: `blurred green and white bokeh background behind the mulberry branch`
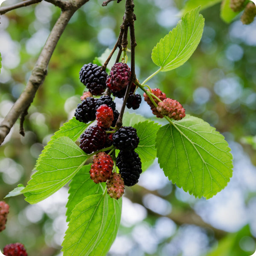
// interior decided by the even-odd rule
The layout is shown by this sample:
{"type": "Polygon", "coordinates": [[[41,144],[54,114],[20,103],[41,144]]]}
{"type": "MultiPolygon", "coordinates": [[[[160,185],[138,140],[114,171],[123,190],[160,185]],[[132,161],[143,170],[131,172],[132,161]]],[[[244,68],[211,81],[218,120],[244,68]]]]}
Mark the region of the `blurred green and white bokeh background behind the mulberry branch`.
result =
{"type": "MultiPolygon", "coordinates": [[[[14,3],[7,0],[2,6],[14,3]]],[[[143,81],[157,70],[151,50],[176,26],[185,0],[134,3],[136,73],[143,81]]],[[[29,108],[25,137],[18,133],[17,122],[0,146],[0,200],[17,184],[27,183],[49,138],[73,116],[84,90],[79,81],[82,65],[115,44],[125,0],[101,4],[90,0],[72,17],[29,108]]],[[[125,190],[121,226],[109,256],[249,256],[255,251],[256,21],[247,26],[239,18],[224,23],[220,4],[201,13],[205,27],[198,49],[183,66],[158,74],[148,85],[177,99],[186,113],[225,136],[234,157],[233,177],[206,201],[172,185],[154,162],[138,185],[125,190]]],[[[24,89],[59,15],[58,7],[42,1],[0,16],[0,119],[24,89]]],[[[155,120],[144,102],[136,113],[155,120]]],[[[0,250],[18,241],[29,256],[61,256],[67,191],[65,186],[35,205],[23,195],[6,199],[10,213],[0,233],[0,250]]]]}

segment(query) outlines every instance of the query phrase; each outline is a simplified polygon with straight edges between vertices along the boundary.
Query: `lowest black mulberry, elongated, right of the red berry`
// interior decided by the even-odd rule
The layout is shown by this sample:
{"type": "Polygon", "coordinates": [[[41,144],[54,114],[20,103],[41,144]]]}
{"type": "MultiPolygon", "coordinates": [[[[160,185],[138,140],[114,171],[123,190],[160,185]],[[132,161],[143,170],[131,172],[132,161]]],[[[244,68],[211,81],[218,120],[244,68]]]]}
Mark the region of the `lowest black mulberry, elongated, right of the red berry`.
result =
{"type": "Polygon", "coordinates": [[[124,180],[125,186],[135,185],[142,173],[141,160],[134,151],[120,151],[116,158],[116,166],[124,180]]]}

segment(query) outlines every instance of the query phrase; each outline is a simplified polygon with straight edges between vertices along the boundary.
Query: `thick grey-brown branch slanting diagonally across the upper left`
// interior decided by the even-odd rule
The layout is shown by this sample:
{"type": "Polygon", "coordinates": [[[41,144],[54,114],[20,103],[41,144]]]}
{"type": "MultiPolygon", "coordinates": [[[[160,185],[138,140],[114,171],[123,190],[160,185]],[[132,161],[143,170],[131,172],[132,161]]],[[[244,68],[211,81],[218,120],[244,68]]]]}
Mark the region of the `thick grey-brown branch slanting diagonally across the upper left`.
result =
{"type": "Polygon", "coordinates": [[[39,86],[44,82],[45,76],[47,75],[47,66],[52,53],[70,18],[76,10],[88,1],[89,0],[69,0],[66,2],[69,9],[61,12],[60,17],[53,26],[52,31],[50,32],[49,37],[38,57],[25,89],[0,124],[0,145],[9,134],[12,126],[15,124],[19,116],[21,115],[21,118],[24,118],[24,113],[26,113],[29,105],[33,102],[39,86]]]}

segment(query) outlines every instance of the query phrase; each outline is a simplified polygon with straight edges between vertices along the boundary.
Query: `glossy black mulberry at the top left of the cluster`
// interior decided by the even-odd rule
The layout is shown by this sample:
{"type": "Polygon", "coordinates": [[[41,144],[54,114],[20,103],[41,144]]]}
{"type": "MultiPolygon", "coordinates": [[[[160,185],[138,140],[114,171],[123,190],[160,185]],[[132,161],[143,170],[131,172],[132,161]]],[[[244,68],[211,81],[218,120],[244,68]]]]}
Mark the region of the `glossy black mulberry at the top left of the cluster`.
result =
{"type": "Polygon", "coordinates": [[[93,95],[101,95],[106,89],[107,72],[96,64],[84,64],[79,72],[80,81],[93,95]]]}

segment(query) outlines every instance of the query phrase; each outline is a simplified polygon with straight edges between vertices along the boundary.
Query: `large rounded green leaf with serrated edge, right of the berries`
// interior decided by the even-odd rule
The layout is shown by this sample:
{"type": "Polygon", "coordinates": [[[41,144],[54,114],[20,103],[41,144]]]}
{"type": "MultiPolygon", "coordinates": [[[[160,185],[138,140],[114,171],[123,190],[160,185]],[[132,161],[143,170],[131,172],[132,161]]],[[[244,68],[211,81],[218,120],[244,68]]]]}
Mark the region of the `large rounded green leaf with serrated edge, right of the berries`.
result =
{"type": "Polygon", "coordinates": [[[204,120],[187,115],[157,133],[157,157],[165,175],[196,197],[211,198],[232,177],[232,154],[224,137],[204,120]]]}

